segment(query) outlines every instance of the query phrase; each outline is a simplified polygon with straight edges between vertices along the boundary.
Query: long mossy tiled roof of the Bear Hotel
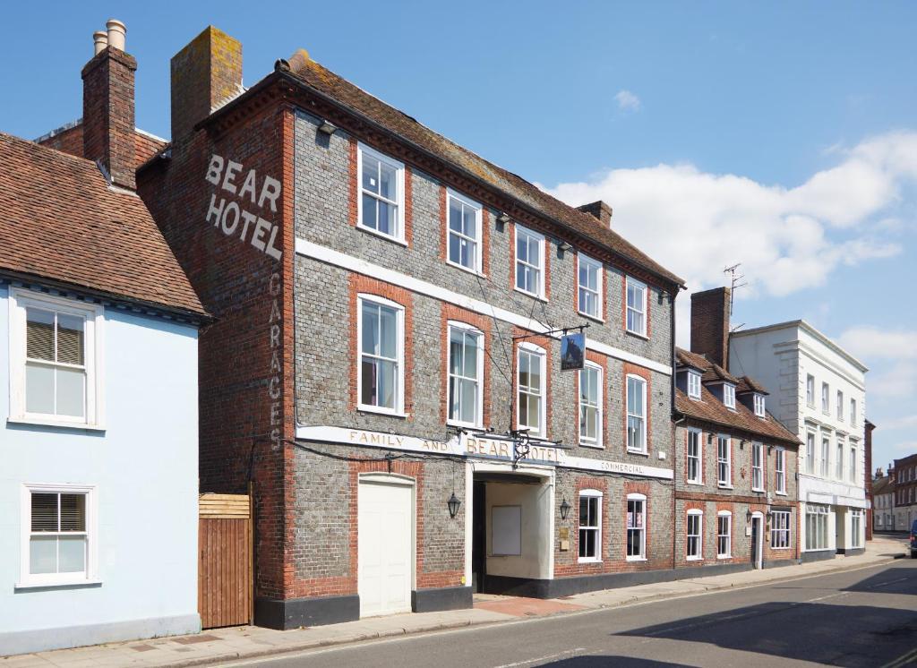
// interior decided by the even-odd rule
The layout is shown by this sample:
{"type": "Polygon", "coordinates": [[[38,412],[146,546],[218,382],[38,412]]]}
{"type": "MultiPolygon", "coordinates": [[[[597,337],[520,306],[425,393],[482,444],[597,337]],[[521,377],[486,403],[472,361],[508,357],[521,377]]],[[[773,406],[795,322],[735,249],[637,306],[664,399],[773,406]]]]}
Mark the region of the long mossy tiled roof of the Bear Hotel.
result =
{"type": "Polygon", "coordinates": [[[379,98],[366,93],[334,72],[326,70],[315,60],[297,54],[291,59],[290,64],[293,75],[319,93],[334,98],[339,103],[347,105],[360,115],[370,118],[440,159],[474,174],[481,181],[487,182],[497,190],[536,209],[548,218],[568,225],[581,235],[591,237],[596,243],[609,247],[614,253],[630,259],[657,276],[672,283],[684,284],[683,279],[657,264],[646,253],[626,241],[624,237],[601,224],[595,216],[585,214],[560,202],[547,192],[540,190],[534,183],[525,181],[511,171],[504,170],[481,158],[469,149],[458,146],[455,142],[418,123],[411,116],[383,103],[379,98]]]}

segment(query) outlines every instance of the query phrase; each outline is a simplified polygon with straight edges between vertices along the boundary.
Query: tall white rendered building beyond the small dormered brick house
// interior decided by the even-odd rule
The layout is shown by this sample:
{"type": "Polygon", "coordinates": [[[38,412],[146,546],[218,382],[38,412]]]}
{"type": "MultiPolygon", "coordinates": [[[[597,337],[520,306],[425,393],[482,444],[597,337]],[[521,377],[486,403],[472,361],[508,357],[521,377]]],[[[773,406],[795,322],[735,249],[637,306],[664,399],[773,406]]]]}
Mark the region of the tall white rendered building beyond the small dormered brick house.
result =
{"type": "Polygon", "coordinates": [[[866,372],[804,320],[730,334],[729,367],[757,378],[799,435],[802,561],[864,549],[866,372]]]}

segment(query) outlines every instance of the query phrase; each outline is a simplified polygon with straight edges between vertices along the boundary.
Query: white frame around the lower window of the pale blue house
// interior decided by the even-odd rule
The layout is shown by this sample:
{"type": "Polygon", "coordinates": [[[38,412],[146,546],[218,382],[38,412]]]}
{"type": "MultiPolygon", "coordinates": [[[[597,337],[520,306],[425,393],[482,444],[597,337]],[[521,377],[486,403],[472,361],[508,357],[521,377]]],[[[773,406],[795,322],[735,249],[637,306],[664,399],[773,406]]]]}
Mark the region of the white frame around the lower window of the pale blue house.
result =
{"type": "Polygon", "coordinates": [[[41,586],[93,585],[98,578],[98,507],[95,485],[24,483],[19,496],[20,556],[17,589],[41,586]],[[83,573],[29,573],[32,533],[32,493],[83,494],[86,497],[86,570],[83,573]]]}

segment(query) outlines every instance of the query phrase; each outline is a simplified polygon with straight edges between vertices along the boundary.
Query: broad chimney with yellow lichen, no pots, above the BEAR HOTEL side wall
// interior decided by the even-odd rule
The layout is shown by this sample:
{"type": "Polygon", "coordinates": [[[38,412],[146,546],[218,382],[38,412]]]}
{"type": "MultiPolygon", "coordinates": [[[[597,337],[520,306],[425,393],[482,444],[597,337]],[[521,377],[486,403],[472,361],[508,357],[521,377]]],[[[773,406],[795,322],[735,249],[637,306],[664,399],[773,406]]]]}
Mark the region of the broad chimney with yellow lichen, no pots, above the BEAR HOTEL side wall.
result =
{"type": "Polygon", "coordinates": [[[242,91],[242,44],[213,26],[204,28],[171,60],[171,138],[188,139],[204,120],[242,91]]]}

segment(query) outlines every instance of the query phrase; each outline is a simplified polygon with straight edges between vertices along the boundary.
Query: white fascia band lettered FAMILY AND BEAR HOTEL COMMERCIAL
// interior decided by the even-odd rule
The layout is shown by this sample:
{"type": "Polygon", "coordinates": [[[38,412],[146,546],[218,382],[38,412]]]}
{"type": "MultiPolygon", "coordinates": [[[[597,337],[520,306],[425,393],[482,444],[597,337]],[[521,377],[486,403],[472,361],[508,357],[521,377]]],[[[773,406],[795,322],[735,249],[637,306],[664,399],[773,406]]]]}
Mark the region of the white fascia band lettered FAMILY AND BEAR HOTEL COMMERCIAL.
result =
{"type": "MultiPolygon", "coordinates": [[[[368,445],[370,447],[414,453],[452,454],[473,459],[513,461],[512,443],[496,439],[478,438],[468,434],[453,436],[448,441],[432,441],[394,433],[368,432],[362,429],[348,429],[347,427],[315,426],[297,427],[296,439],[325,443],[368,445]]],[[[666,480],[670,480],[673,477],[670,468],[576,457],[567,454],[564,450],[546,445],[533,445],[529,454],[521,459],[520,462],[524,462],[526,465],[567,466],[586,471],[618,473],[624,476],[657,477],[666,480]]]]}

